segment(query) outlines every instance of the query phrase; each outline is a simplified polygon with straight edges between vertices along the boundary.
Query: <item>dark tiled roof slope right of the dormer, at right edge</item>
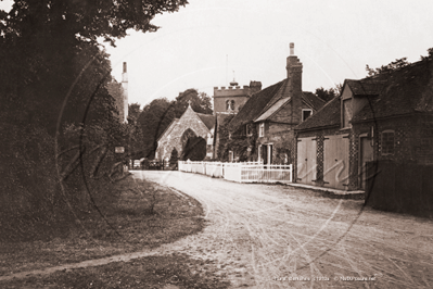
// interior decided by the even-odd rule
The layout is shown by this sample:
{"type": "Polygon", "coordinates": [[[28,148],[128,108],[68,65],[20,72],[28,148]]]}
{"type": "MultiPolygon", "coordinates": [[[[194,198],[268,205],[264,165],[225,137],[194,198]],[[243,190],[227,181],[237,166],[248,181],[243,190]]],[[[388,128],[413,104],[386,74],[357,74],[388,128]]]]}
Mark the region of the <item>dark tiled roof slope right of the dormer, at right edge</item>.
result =
{"type": "Polygon", "coordinates": [[[370,98],[371,106],[366,105],[352,122],[433,112],[432,71],[433,61],[420,61],[384,75],[387,81],[379,96],[370,98]]]}

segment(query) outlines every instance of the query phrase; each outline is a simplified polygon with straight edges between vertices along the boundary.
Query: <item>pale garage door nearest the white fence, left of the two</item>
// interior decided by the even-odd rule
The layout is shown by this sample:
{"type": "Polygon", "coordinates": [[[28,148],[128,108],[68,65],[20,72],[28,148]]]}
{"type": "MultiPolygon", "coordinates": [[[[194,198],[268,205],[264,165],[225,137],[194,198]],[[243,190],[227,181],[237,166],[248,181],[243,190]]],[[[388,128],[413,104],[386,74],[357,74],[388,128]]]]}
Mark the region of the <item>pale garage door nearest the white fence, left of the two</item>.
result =
{"type": "Polygon", "coordinates": [[[317,143],[315,138],[297,139],[296,181],[306,185],[316,185],[317,174],[317,143]]]}

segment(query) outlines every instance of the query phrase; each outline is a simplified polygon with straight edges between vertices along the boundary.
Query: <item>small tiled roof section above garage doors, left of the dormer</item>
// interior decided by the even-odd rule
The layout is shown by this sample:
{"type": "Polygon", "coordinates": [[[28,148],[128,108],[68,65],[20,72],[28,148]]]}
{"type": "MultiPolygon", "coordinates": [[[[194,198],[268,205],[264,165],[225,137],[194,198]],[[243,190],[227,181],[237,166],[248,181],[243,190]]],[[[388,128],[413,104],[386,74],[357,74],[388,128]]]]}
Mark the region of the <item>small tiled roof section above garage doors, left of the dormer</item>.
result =
{"type": "Polygon", "coordinates": [[[296,126],[296,130],[340,126],[340,97],[333,98],[318,112],[309,116],[305,122],[296,126]]]}

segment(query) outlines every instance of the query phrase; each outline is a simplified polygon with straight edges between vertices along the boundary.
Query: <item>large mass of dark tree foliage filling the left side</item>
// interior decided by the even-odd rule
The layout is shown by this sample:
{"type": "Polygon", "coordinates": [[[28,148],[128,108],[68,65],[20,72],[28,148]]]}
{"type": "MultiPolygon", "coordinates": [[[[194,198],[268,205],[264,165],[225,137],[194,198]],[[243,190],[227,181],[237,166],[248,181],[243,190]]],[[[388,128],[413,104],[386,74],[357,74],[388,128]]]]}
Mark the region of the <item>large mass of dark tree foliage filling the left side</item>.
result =
{"type": "Polygon", "coordinates": [[[127,161],[114,147],[130,155],[139,134],[118,122],[110,92],[119,89],[97,38],[114,45],[129,28],[154,32],[156,14],[186,3],[15,0],[0,11],[2,238],[43,235],[41,226],[98,210],[95,194],[110,199],[127,161]]]}

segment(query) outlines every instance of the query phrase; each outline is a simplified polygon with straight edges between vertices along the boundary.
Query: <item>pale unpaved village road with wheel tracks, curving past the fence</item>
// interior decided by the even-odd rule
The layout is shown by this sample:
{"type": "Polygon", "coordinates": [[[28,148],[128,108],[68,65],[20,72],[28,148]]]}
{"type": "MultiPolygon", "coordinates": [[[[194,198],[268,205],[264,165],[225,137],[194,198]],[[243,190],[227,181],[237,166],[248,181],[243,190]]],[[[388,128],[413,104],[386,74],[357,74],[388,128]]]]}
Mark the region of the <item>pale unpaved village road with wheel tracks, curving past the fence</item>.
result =
{"type": "Polygon", "coordinates": [[[432,221],[290,186],[181,172],[133,176],[203,203],[206,228],[162,250],[216,260],[233,288],[433,288],[432,221]]]}

